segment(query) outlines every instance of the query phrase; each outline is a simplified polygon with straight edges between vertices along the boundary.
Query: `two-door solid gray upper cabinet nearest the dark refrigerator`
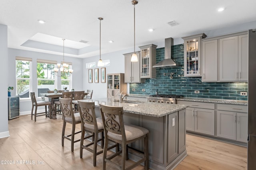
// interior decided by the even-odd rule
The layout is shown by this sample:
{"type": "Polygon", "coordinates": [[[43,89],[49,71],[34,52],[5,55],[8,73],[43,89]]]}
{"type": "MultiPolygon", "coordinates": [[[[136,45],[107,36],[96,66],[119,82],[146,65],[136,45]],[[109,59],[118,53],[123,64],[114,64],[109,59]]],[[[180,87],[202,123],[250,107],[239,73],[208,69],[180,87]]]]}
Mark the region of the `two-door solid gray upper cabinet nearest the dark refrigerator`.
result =
{"type": "Polygon", "coordinates": [[[222,38],[220,41],[220,81],[247,81],[248,35],[222,38]]]}

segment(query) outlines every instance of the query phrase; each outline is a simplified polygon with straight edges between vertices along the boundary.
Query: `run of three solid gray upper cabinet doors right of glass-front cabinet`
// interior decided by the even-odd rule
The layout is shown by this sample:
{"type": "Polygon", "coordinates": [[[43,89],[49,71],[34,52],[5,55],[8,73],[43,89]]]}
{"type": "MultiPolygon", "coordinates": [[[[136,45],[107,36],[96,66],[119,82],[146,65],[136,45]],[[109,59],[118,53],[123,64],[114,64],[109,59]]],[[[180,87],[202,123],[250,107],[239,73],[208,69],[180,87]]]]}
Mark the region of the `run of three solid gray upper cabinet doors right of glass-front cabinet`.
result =
{"type": "Polygon", "coordinates": [[[247,32],[212,37],[203,41],[202,81],[248,80],[247,32]]]}

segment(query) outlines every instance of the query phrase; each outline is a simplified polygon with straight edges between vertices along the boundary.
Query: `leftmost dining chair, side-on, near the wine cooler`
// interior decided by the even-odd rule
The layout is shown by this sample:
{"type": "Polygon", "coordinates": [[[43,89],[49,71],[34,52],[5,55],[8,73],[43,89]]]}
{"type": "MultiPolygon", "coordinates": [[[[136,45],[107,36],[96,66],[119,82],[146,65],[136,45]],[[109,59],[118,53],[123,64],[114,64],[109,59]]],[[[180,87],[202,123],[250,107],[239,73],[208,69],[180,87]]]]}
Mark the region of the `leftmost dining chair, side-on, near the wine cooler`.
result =
{"type": "Polygon", "coordinates": [[[34,120],[35,121],[36,121],[37,116],[43,116],[43,115],[45,115],[45,117],[47,117],[47,115],[49,115],[50,119],[52,119],[52,115],[50,113],[51,102],[44,102],[44,101],[38,101],[37,102],[35,92],[30,92],[30,98],[31,98],[31,101],[32,101],[31,120],[33,119],[33,115],[34,115],[34,120]],[[45,111],[37,113],[37,107],[38,106],[45,106],[45,111]],[[47,111],[47,106],[49,106],[49,111],[47,111]],[[34,112],[34,107],[35,107],[35,112],[34,112]]]}

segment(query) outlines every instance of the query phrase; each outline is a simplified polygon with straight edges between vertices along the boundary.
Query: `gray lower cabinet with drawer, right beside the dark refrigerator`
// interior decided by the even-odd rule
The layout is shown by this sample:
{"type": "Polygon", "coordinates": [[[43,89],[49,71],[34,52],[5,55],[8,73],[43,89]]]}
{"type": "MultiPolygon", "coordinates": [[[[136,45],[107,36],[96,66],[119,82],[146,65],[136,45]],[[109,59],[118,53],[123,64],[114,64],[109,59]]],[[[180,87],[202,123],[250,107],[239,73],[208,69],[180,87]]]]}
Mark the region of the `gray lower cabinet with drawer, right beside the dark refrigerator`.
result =
{"type": "Polygon", "coordinates": [[[247,106],[218,104],[217,136],[247,142],[247,106]]]}

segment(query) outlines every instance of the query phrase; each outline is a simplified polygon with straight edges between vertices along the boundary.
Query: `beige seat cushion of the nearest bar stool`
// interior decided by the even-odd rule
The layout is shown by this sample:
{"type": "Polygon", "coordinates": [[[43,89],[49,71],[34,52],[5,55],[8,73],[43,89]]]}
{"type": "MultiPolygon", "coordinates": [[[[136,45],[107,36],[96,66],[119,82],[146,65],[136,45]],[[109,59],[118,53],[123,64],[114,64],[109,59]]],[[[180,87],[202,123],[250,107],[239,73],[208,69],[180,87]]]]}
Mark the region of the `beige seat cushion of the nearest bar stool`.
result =
{"type": "MultiPolygon", "coordinates": [[[[145,129],[144,127],[140,127],[136,125],[130,125],[130,124],[124,124],[124,130],[126,135],[126,141],[136,139],[148,133],[148,129],[145,129]]],[[[108,131],[108,136],[120,141],[122,140],[122,135],[118,135],[110,131],[108,131]]]]}

